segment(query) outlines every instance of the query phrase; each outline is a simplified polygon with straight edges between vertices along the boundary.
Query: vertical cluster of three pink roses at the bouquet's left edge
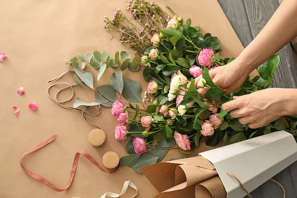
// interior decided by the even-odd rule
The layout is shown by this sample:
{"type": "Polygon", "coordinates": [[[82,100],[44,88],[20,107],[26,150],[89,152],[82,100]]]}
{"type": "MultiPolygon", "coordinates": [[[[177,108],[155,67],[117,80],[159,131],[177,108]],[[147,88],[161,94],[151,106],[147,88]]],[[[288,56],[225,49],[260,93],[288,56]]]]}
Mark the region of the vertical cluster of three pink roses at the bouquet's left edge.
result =
{"type": "Polygon", "coordinates": [[[123,142],[123,143],[127,139],[127,137],[126,137],[126,133],[127,133],[126,120],[128,119],[128,114],[127,114],[127,112],[124,112],[124,108],[125,108],[124,102],[121,100],[115,100],[115,102],[113,102],[112,108],[111,108],[111,114],[113,116],[116,116],[117,121],[120,122],[119,125],[115,126],[114,137],[116,140],[123,142]]]}

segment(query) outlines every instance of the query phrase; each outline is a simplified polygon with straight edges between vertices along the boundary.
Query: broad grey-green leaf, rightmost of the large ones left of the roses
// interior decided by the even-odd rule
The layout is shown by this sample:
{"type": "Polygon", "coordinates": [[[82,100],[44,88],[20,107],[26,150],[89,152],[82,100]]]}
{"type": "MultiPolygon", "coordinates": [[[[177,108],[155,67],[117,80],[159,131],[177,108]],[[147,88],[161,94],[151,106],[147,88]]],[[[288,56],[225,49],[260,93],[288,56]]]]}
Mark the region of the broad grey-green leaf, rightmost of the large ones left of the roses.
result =
{"type": "Polygon", "coordinates": [[[129,78],[125,79],[122,95],[130,102],[141,102],[141,87],[139,82],[129,78]]]}

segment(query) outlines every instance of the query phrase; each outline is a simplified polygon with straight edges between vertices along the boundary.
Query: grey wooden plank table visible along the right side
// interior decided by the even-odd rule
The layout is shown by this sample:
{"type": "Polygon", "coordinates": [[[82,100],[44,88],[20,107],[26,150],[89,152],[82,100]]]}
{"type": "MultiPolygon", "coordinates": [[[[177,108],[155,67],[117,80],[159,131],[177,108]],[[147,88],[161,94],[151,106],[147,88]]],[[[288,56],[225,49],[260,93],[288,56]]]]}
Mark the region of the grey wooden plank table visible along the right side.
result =
{"type": "MultiPolygon", "coordinates": [[[[218,0],[244,47],[257,36],[282,0],[218,0]]],[[[274,76],[273,87],[297,88],[297,67],[290,44],[279,51],[280,66],[274,76]]],[[[265,159],[263,159],[265,160],[265,159]]],[[[297,197],[297,162],[273,177],[286,190],[286,198],[297,197]]],[[[282,198],[282,189],[267,181],[255,189],[253,198],[282,198]]]]}

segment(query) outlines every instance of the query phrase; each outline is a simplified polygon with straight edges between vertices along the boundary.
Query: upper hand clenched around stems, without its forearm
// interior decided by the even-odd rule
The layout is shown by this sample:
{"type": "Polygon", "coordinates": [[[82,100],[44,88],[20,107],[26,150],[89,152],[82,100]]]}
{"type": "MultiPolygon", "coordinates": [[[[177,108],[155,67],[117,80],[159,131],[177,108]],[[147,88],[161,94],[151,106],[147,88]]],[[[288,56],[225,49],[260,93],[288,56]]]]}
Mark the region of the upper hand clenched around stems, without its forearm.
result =
{"type": "MultiPolygon", "coordinates": [[[[245,67],[244,61],[237,58],[227,65],[210,70],[209,76],[216,86],[225,89],[230,93],[240,87],[245,80],[247,80],[247,76],[251,72],[248,68],[250,67],[245,67]]],[[[196,87],[201,77],[202,75],[195,79],[196,87]]]]}

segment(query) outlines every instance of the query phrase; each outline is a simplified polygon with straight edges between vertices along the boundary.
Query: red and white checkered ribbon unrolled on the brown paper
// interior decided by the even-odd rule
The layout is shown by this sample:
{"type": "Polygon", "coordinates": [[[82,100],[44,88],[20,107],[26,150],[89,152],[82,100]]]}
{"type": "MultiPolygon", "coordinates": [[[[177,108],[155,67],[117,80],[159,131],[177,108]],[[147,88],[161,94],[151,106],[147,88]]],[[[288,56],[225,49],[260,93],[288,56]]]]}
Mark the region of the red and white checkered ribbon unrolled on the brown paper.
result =
{"type": "Polygon", "coordinates": [[[75,170],[76,170],[76,166],[77,166],[77,163],[78,163],[78,158],[79,158],[79,155],[82,154],[83,156],[85,156],[87,159],[89,159],[93,164],[95,164],[95,166],[97,166],[101,171],[105,172],[105,173],[110,173],[110,171],[106,171],[104,170],[100,165],[99,163],[89,154],[87,153],[86,151],[84,150],[81,150],[79,152],[77,152],[74,156],[74,159],[73,159],[73,164],[72,164],[72,167],[71,167],[71,172],[70,172],[70,176],[69,176],[69,180],[68,180],[68,184],[66,186],[65,189],[59,189],[57,187],[55,187],[54,185],[52,185],[48,180],[32,173],[31,171],[29,171],[27,168],[25,168],[22,164],[22,158],[31,153],[31,152],[34,152],[35,150],[38,150],[40,148],[43,148],[44,146],[48,145],[49,143],[51,143],[55,138],[57,137],[57,135],[53,135],[51,138],[49,138],[48,140],[46,140],[45,142],[41,143],[40,145],[34,147],[34,148],[31,148],[30,150],[28,150],[27,152],[25,152],[22,157],[21,157],[21,167],[23,168],[23,170],[25,171],[25,173],[27,173],[30,177],[32,177],[33,179],[36,179],[37,181],[47,185],[49,188],[51,188],[52,190],[55,190],[55,191],[58,191],[58,192],[62,192],[62,191],[65,191],[66,189],[68,189],[72,183],[72,180],[74,178],[74,174],[75,174],[75,170]]]}

